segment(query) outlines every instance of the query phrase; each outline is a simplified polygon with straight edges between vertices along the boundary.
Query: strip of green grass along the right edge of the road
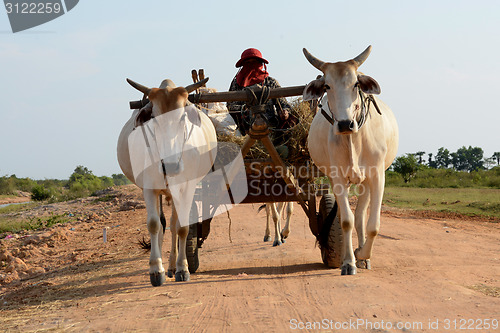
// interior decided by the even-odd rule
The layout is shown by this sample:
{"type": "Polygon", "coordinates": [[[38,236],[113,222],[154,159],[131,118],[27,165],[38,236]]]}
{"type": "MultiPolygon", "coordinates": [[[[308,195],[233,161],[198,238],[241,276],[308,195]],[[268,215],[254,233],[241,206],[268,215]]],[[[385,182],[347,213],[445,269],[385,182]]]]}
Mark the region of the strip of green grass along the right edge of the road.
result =
{"type": "Polygon", "coordinates": [[[388,186],[383,203],[396,208],[483,216],[500,222],[500,189],[388,186]]]}

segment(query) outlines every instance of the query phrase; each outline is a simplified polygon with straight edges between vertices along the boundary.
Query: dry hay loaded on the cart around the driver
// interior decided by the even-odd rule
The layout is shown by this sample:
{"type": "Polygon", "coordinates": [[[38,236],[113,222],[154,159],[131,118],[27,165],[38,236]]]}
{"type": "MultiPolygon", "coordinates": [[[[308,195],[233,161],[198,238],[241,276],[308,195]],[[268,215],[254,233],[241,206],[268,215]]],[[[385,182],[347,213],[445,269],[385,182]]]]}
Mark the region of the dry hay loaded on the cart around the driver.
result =
{"type": "MultiPolygon", "coordinates": [[[[303,164],[310,160],[307,150],[307,135],[314,115],[311,112],[309,103],[302,101],[301,98],[291,101],[290,106],[292,107],[291,115],[297,119],[296,125],[287,129],[271,128],[271,139],[283,135],[285,138],[283,146],[288,148],[288,156],[285,157],[284,154],[281,154],[282,147],[277,147],[283,161],[288,164],[303,164]]],[[[241,148],[246,137],[217,134],[217,139],[219,142],[235,143],[241,148]]],[[[222,150],[220,149],[218,154],[224,154],[222,150]]],[[[269,154],[260,141],[257,141],[245,156],[245,159],[267,158],[269,158],[269,154]]]]}

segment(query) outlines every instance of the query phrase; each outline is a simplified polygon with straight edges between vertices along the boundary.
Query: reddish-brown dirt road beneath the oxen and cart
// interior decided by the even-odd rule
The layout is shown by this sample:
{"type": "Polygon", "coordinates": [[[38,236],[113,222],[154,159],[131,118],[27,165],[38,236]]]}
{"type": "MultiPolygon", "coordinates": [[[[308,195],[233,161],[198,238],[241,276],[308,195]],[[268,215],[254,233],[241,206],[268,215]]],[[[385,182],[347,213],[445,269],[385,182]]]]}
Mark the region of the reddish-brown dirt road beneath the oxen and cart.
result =
{"type": "MultiPolygon", "coordinates": [[[[257,208],[231,210],[230,233],[227,217],[216,217],[191,281],[156,288],[147,274],[149,255],[136,244],[147,236],[145,209],[114,209],[105,218],[54,227],[45,231],[51,242],[3,240],[4,251],[20,248],[28,267],[45,272],[2,286],[0,330],[500,330],[492,326],[500,320],[498,223],[386,212],[372,270],[340,276],[322,265],[298,205],[280,247],[262,242],[265,213],[257,215],[257,208]]],[[[164,262],[169,247],[165,237],[164,262]]]]}

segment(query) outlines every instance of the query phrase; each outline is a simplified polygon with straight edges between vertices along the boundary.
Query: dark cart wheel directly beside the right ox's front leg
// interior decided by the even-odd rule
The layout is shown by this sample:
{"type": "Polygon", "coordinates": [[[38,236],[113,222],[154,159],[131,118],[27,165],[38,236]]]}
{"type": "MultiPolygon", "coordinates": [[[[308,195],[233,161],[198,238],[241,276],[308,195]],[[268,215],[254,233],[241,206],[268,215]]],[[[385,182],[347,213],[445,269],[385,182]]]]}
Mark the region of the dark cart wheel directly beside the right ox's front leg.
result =
{"type": "Polygon", "coordinates": [[[333,194],[325,194],[319,203],[319,217],[321,230],[319,245],[321,259],[330,268],[339,268],[342,265],[342,227],[337,209],[337,202],[333,194]]]}

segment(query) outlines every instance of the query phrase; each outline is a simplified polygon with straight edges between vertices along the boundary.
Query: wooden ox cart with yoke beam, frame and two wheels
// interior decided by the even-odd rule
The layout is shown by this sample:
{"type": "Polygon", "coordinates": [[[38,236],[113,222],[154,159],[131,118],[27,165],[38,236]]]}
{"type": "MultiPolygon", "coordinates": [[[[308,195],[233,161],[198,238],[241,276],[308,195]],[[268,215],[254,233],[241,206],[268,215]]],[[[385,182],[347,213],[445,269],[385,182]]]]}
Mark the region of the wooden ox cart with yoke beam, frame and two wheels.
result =
{"type": "MultiPolygon", "coordinates": [[[[302,95],[304,88],[305,86],[276,89],[264,87],[245,91],[195,93],[189,95],[189,101],[194,104],[246,102],[249,106],[251,126],[241,152],[245,163],[248,195],[241,203],[298,202],[309,218],[309,228],[319,242],[323,262],[328,267],[337,268],[342,264],[342,230],[335,197],[328,193],[327,184],[316,182],[316,179],[324,175],[312,163],[286,165],[283,162],[271,141],[270,128],[263,117],[265,104],[269,99],[302,95]],[[269,158],[259,160],[245,158],[257,141],[262,142],[269,158]],[[319,209],[317,209],[317,197],[321,197],[319,209]]],[[[147,100],[130,102],[130,107],[140,108],[147,102],[147,100]]],[[[202,209],[210,210],[211,207],[202,202],[202,209]]],[[[208,215],[210,214],[203,214],[203,216],[208,215]]],[[[186,252],[191,273],[198,269],[198,249],[210,233],[210,222],[211,218],[190,226],[186,252]]]]}

